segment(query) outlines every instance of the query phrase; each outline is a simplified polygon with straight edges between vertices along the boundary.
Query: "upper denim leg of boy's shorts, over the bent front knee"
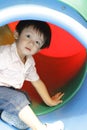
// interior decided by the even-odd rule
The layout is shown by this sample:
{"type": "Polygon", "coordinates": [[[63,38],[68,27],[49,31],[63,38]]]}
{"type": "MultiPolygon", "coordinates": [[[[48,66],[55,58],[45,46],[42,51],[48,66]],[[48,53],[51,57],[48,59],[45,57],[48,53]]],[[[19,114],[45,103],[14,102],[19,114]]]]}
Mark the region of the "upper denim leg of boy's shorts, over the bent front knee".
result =
{"type": "Polygon", "coordinates": [[[0,110],[18,115],[20,110],[28,104],[30,101],[23,92],[0,86],[0,110]]]}

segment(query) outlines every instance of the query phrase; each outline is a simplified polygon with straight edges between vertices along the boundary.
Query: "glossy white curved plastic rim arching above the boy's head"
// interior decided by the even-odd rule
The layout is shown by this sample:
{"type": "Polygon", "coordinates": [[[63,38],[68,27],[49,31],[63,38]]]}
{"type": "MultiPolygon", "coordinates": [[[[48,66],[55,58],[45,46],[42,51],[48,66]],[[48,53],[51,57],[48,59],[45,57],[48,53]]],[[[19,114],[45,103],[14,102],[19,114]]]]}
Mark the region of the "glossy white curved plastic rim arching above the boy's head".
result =
{"type": "Polygon", "coordinates": [[[37,19],[60,26],[87,48],[87,29],[81,23],[62,12],[33,4],[16,5],[0,11],[0,26],[22,19],[37,19]]]}

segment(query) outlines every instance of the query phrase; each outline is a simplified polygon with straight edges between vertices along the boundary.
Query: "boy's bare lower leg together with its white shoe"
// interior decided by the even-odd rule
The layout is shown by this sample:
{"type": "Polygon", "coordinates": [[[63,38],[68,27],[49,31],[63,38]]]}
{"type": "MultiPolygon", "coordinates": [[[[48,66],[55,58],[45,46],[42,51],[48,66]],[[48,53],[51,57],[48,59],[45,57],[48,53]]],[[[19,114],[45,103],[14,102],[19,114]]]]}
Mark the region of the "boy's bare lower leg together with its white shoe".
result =
{"type": "Polygon", "coordinates": [[[64,130],[62,121],[53,124],[42,124],[28,105],[19,112],[19,118],[32,130],[64,130]]]}

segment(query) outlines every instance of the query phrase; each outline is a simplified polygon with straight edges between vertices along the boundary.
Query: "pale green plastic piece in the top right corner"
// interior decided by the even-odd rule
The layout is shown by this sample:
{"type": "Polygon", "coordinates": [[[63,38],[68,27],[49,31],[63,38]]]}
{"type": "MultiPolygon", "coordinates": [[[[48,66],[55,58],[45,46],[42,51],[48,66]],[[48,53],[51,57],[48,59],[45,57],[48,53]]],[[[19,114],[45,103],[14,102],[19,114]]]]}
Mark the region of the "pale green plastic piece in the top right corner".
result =
{"type": "Polygon", "coordinates": [[[58,0],[77,10],[87,20],[87,0],[58,0]]]}

